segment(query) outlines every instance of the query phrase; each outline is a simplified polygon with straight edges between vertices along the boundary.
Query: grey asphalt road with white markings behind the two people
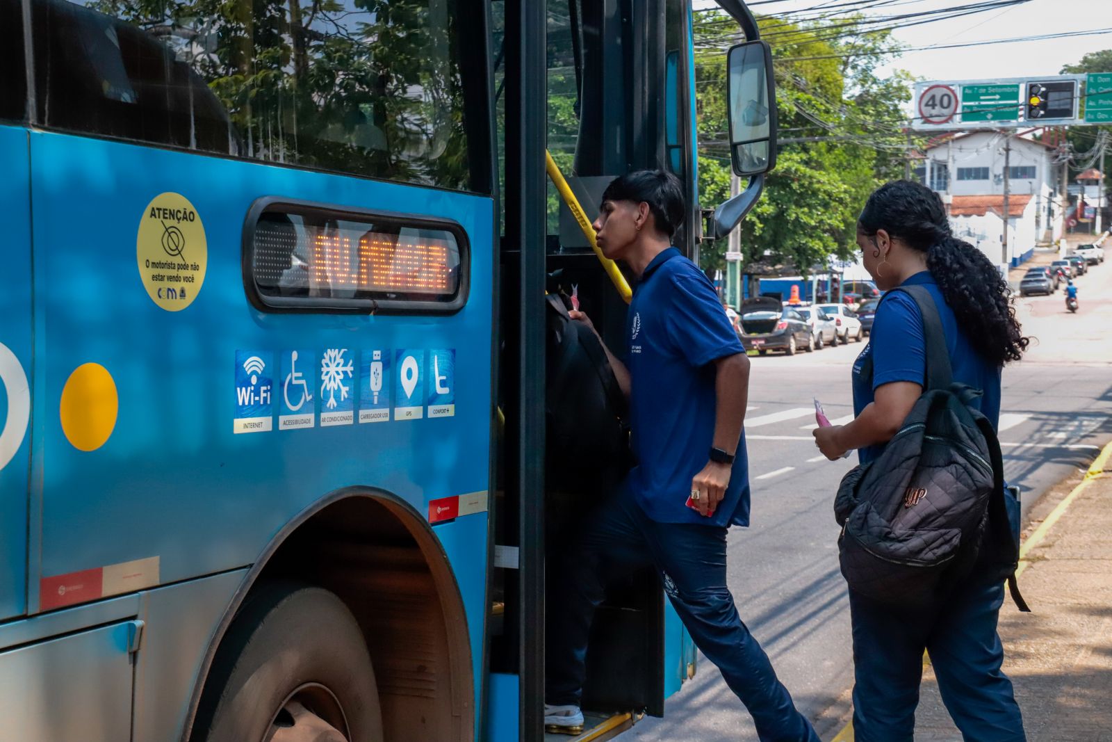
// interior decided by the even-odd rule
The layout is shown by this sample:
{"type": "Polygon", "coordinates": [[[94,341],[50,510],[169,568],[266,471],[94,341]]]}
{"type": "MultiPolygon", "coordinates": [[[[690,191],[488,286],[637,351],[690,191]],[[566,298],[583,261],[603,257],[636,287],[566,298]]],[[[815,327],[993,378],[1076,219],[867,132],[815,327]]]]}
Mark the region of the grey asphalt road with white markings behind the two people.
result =
{"type": "MultiPolygon", "coordinates": [[[[1066,313],[1062,294],[1017,306],[1024,334],[1036,340],[1004,370],[1000,441],[1025,512],[1049,487],[1088,467],[1112,438],[1112,259],[1076,283],[1076,315],[1066,313]]],[[[852,413],[850,367],[864,347],[753,358],[746,415],[753,525],[729,535],[729,586],[742,617],[824,740],[841,728],[853,684],[832,503],[855,457],[822,458],[808,428],[813,396],[832,421],[852,413]]],[[[698,674],[668,701],[665,718],[643,720],[627,738],[737,742],[756,733],[721,673],[701,656],[698,674]]]]}

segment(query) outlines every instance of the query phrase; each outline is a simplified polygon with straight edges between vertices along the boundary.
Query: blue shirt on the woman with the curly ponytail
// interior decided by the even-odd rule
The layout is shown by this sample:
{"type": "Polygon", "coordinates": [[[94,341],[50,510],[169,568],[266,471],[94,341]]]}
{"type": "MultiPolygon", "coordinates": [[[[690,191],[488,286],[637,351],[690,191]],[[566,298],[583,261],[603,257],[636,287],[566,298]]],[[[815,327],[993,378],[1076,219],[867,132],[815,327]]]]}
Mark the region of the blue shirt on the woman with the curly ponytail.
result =
{"type": "MultiPolygon", "coordinates": [[[[985,360],[973,348],[964,330],[957,326],[954,311],[942,298],[942,290],[931,271],[915,274],[903,286],[922,285],[931,293],[942,319],[942,332],[946,336],[950,352],[950,367],[955,382],[981,389],[979,409],[989,418],[993,427],[1000,422],[1001,369],[985,360]]],[[[885,296],[876,307],[873,330],[868,345],[853,364],[853,414],[860,415],[873,402],[876,387],[893,382],[926,382],[926,337],[923,335],[923,316],[915,299],[896,293],[885,296]],[[862,378],[862,363],[873,354],[873,378],[862,378]]],[[[884,452],[884,444],[862,448],[857,457],[862,464],[873,461],[884,452]]]]}

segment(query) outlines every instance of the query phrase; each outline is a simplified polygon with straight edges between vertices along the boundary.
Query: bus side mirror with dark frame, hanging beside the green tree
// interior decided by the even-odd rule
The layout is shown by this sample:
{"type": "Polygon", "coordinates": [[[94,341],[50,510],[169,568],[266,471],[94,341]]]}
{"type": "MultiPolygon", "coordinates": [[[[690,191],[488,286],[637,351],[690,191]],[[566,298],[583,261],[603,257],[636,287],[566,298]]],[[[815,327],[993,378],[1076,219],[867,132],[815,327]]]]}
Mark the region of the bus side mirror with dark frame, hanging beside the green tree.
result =
{"type": "Polygon", "coordinates": [[[731,47],[727,111],[734,172],[752,177],[776,166],[776,86],[766,41],[731,47]]]}

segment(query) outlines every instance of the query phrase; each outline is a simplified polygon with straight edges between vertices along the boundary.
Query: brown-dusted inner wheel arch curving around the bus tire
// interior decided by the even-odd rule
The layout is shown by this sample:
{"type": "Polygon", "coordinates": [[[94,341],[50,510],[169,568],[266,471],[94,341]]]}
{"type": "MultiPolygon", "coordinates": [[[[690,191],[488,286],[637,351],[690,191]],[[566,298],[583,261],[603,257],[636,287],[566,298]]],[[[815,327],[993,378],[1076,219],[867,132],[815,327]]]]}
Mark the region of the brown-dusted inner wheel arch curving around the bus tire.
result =
{"type": "Polygon", "coordinates": [[[181,742],[193,733],[228,627],[252,588],[275,578],[327,587],[351,609],[375,665],[386,742],[416,739],[407,724],[418,719],[425,724],[424,732],[417,731],[420,739],[473,739],[477,711],[470,635],[447,553],[424,515],[401,497],[375,487],[346,487],[282,526],[244,577],[209,640],[181,742]],[[397,633],[391,634],[391,626],[397,633]],[[417,632],[424,632],[424,642],[390,641],[413,639],[417,632]],[[416,650],[407,650],[415,644],[416,650]]]}

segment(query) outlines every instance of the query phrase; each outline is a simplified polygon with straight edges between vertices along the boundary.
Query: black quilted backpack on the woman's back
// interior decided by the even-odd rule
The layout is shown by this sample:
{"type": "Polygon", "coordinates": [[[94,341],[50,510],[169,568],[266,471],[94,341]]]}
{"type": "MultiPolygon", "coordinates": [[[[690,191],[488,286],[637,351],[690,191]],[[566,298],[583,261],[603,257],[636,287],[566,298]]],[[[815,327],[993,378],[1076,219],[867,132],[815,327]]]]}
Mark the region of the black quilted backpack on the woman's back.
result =
{"type": "MultiPolygon", "coordinates": [[[[952,383],[937,307],[922,286],[926,388],[884,453],[842,479],[834,515],[851,590],[875,602],[925,607],[976,568],[1015,585],[1019,502],[1005,492],[996,433],[972,403],[981,392],[952,383]],[[1007,502],[1012,501],[1012,502],[1007,502]]],[[[872,355],[862,374],[872,377],[872,355]]]]}

